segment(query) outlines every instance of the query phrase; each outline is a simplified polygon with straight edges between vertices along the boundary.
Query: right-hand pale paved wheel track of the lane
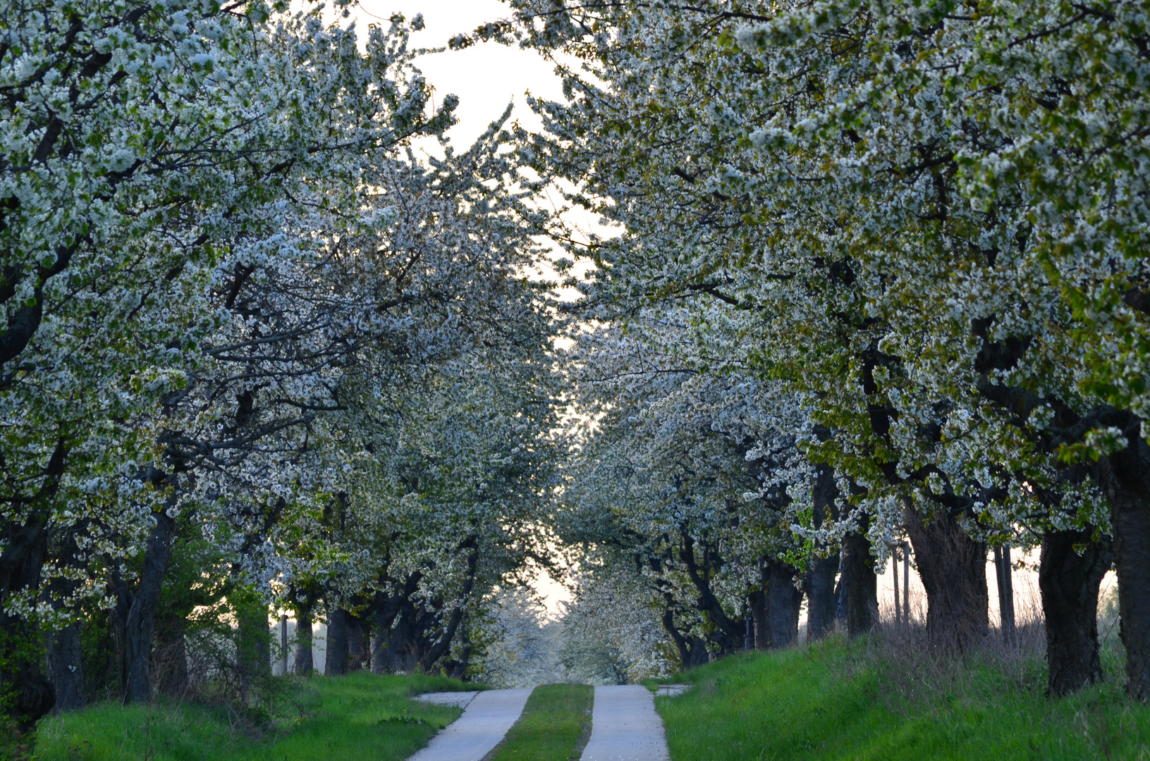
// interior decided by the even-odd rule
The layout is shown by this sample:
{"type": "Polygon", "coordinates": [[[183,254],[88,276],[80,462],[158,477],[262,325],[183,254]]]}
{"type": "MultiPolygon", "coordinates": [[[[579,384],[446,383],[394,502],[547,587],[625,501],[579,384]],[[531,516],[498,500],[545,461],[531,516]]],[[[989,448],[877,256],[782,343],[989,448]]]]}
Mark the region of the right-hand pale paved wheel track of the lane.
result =
{"type": "Polygon", "coordinates": [[[643,686],[595,689],[591,739],[583,761],[668,761],[662,720],[643,686]]]}

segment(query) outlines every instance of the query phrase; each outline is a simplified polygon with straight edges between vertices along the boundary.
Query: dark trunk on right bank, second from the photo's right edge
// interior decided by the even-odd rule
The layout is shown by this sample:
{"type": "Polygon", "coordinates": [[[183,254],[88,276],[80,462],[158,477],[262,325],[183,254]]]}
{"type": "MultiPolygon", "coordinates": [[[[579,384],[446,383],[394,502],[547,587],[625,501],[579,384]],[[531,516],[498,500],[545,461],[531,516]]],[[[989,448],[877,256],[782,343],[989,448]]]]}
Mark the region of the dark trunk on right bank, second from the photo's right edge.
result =
{"type": "Polygon", "coordinates": [[[1048,531],[1042,537],[1038,589],[1046,618],[1046,690],[1065,695],[1102,681],[1098,660],[1098,585],[1111,553],[1087,531],[1048,531]],[[1074,545],[1086,545],[1079,555],[1074,545]]]}

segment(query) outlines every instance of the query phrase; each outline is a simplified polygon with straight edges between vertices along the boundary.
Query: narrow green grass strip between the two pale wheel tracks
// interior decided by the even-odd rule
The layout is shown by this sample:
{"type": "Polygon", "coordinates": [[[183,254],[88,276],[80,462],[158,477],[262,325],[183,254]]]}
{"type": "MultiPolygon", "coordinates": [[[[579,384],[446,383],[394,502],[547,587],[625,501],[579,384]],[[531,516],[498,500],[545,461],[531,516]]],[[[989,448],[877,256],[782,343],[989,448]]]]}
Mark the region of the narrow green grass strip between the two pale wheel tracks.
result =
{"type": "Polygon", "coordinates": [[[569,761],[590,727],[593,689],[544,684],[531,692],[523,715],[494,750],[491,761],[569,761]]]}

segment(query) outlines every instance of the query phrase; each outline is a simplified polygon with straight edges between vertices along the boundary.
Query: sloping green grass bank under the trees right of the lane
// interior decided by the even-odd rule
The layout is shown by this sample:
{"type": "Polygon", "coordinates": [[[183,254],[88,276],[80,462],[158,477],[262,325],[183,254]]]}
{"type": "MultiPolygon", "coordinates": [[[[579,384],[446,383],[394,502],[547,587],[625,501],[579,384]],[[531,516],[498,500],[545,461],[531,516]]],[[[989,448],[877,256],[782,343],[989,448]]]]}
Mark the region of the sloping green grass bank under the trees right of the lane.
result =
{"type": "Polygon", "coordinates": [[[940,664],[834,638],[678,675],[695,687],[656,706],[673,761],[1150,760],[1150,707],[1117,675],[1051,699],[1041,658],[1023,661],[940,664]]]}

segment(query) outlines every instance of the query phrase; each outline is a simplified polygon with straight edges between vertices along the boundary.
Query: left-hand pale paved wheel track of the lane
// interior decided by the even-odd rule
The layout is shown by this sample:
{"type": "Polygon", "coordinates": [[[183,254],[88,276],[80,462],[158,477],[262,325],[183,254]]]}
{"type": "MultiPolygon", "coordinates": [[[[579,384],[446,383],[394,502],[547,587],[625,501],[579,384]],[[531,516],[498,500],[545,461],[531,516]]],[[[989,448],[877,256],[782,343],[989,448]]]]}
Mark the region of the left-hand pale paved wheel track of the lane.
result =
{"type": "MultiPolygon", "coordinates": [[[[448,702],[438,695],[470,693],[434,693],[422,695],[432,702],[448,702]]],[[[480,761],[499,744],[519,715],[530,690],[489,690],[467,702],[463,715],[431,738],[431,744],[408,761],[480,761]]],[[[455,705],[459,705],[458,702],[455,705]]]]}

